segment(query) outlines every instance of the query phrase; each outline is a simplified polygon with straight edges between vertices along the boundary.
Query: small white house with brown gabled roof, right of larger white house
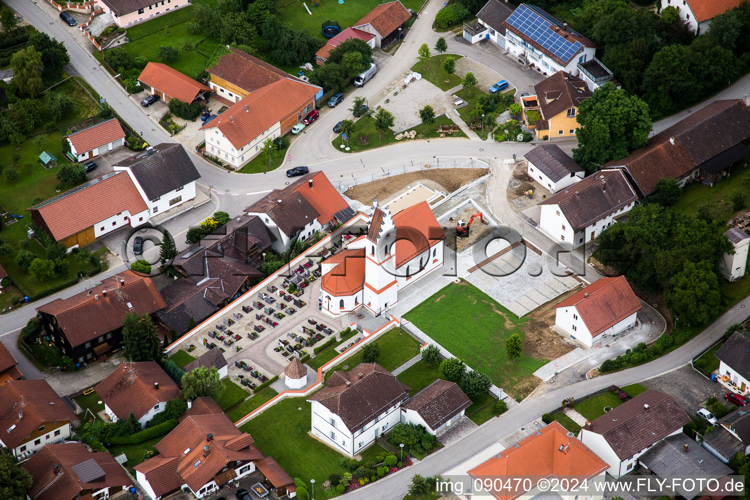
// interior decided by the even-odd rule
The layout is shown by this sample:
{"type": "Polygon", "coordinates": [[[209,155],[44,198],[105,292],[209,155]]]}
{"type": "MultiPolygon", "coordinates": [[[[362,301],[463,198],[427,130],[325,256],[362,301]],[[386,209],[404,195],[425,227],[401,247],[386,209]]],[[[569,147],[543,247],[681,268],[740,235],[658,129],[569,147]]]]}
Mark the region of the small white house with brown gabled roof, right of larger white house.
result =
{"type": "Polygon", "coordinates": [[[422,425],[434,436],[458,422],[469,406],[455,382],[437,379],[401,405],[401,423],[422,425]]]}

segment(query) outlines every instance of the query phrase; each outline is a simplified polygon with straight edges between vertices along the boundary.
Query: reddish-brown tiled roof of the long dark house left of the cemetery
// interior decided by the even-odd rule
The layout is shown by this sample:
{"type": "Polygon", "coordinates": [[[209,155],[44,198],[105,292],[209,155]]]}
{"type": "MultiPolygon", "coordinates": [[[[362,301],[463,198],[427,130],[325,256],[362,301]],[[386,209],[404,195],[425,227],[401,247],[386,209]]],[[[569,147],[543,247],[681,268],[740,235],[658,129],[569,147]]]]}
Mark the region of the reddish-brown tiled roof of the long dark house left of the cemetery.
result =
{"type": "Polygon", "coordinates": [[[47,302],[37,311],[55,316],[71,346],[80,346],[120,328],[126,313],[142,316],[164,307],[151,279],[128,270],[105,278],[86,292],[47,302]]]}

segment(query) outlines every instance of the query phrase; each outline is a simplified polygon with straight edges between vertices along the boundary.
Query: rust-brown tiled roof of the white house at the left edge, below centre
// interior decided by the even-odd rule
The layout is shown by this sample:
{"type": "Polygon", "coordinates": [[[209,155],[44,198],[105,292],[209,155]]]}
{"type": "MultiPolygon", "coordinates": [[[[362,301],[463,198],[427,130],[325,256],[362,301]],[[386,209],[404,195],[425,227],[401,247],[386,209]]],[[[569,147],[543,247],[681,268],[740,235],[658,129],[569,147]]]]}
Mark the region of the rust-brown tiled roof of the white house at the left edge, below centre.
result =
{"type": "Polygon", "coordinates": [[[0,387],[0,429],[4,430],[2,441],[10,450],[26,442],[44,422],[62,426],[76,420],[74,412],[43,379],[11,380],[0,387]]]}

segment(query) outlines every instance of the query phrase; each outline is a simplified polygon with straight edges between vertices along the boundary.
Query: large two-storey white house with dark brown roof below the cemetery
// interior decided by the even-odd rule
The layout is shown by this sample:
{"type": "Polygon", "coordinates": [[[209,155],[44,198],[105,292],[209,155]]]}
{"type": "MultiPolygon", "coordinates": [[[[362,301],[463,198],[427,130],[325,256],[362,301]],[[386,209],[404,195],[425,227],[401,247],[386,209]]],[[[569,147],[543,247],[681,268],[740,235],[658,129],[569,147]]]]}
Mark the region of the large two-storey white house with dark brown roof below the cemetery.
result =
{"type": "Polygon", "coordinates": [[[317,439],[354,457],[401,422],[401,404],[409,388],[379,364],[360,363],[335,371],[312,403],[312,433],[317,439]]]}

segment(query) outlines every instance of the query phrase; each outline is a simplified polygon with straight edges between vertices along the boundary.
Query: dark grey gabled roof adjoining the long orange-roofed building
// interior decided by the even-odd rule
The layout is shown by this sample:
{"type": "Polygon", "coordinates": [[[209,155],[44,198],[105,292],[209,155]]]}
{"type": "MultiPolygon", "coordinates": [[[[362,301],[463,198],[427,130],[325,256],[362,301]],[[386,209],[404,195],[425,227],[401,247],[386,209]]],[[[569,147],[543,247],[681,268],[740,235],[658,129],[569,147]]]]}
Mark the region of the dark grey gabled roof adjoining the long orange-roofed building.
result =
{"type": "Polygon", "coordinates": [[[200,178],[187,151],[178,142],[163,142],[113,165],[129,168],[148,199],[154,200],[200,178]]]}

